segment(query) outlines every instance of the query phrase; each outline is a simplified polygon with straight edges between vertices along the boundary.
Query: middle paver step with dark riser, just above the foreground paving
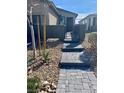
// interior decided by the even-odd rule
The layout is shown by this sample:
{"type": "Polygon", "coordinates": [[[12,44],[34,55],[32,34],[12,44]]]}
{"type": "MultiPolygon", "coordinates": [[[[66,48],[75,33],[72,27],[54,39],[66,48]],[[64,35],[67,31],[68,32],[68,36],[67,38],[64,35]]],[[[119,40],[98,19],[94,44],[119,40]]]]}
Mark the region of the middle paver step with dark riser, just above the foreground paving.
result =
{"type": "Polygon", "coordinates": [[[82,55],[83,55],[83,52],[63,52],[61,61],[59,63],[60,68],[89,67],[90,64],[88,60],[86,60],[86,58],[82,55]]]}

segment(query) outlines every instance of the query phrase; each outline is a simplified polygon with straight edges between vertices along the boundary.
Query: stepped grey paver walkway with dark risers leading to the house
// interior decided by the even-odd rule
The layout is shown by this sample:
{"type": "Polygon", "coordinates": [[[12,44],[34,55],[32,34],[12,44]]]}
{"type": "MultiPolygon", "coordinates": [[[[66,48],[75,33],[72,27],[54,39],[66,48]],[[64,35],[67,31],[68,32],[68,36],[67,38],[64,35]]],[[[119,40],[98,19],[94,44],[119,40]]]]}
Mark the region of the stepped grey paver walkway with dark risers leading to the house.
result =
{"type": "MultiPolygon", "coordinates": [[[[68,32],[66,40],[70,40],[70,35],[68,32]]],[[[56,93],[96,93],[97,79],[94,72],[89,71],[88,61],[82,60],[83,48],[69,40],[72,43],[63,44],[56,93]]]]}

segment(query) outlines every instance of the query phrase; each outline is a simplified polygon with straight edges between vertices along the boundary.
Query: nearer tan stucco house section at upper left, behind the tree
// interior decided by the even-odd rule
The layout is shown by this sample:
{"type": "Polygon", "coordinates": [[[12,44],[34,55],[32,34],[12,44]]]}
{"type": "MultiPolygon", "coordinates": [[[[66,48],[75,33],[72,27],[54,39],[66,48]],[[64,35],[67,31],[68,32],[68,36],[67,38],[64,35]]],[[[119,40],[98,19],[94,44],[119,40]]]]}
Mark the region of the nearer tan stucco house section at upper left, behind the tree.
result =
{"type": "MultiPolygon", "coordinates": [[[[43,24],[43,16],[45,15],[46,25],[57,25],[58,16],[49,7],[48,3],[43,3],[42,0],[32,0],[32,2],[36,2],[37,4],[39,4],[33,7],[32,15],[40,15],[42,20],[41,24],[43,24]]],[[[31,7],[31,0],[27,0],[27,9],[30,10],[30,7],[31,7]]]]}

